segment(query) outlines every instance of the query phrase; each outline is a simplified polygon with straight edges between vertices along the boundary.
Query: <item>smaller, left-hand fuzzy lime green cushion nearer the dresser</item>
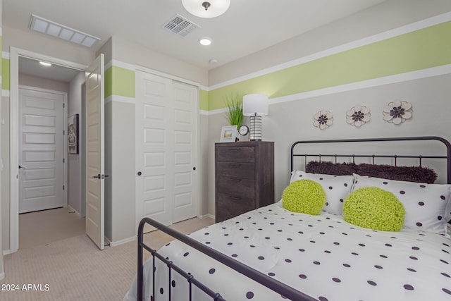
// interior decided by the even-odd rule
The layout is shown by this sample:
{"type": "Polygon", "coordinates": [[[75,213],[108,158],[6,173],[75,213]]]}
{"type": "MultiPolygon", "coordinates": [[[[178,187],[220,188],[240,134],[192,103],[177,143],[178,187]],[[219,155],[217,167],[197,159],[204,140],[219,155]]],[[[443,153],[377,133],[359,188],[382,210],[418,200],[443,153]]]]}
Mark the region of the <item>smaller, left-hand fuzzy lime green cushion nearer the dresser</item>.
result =
{"type": "Polygon", "coordinates": [[[292,212],[318,215],[326,204],[326,192],[314,180],[297,180],[282,194],[283,208],[292,212]]]}

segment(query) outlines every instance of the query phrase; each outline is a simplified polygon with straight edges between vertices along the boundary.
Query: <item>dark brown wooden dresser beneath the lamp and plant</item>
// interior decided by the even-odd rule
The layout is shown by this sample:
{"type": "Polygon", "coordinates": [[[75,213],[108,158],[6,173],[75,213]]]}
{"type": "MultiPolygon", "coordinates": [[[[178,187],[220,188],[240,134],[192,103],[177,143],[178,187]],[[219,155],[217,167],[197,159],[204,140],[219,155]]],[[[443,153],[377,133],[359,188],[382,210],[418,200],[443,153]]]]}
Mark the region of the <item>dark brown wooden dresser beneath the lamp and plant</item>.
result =
{"type": "Polygon", "coordinates": [[[274,142],[215,144],[216,223],[274,202],[274,142]]]}

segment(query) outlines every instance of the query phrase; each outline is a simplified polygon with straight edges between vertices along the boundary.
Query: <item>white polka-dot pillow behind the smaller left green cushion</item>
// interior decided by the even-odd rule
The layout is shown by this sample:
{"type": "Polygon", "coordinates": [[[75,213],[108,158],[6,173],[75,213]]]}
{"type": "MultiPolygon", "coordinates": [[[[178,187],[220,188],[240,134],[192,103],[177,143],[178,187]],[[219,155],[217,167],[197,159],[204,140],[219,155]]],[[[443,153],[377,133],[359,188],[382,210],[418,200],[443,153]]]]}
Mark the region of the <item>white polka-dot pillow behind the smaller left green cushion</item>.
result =
{"type": "Polygon", "coordinates": [[[326,206],[323,211],[330,214],[343,214],[343,202],[350,194],[354,176],[331,176],[321,173],[306,173],[305,171],[292,171],[290,183],[295,180],[314,180],[323,186],[326,192],[326,206]]]}

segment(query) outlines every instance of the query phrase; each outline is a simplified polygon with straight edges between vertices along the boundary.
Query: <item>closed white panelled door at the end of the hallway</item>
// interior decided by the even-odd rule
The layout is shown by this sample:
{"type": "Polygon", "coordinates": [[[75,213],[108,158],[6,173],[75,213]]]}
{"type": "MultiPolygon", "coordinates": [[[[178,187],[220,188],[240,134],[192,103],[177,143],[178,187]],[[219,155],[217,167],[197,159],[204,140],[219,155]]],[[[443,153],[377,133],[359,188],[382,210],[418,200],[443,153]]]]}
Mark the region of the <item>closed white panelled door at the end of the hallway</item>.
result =
{"type": "Polygon", "coordinates": [[[66,94],[19,87],[19,213],[63,207],[66,94]]]}

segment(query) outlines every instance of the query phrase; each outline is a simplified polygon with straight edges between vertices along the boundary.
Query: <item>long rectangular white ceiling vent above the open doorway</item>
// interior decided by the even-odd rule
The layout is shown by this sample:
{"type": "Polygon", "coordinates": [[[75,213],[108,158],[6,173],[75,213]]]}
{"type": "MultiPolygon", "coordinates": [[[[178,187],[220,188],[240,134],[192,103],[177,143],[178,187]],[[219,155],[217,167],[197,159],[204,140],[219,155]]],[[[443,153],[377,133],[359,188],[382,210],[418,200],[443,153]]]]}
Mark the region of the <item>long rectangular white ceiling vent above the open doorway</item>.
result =
{"type": "Polygon", "coordinates": [[[58,24],[54,21],[44,19],[42,17],[31,15],[30,24],[28,27],[31,30],[42,32],[53,37],[59,37],[66,41],[73,42],[75,44],[83,45],[85,47],[92,47],[100,38],[88,35],[80,30],[74,30],[65,25],[58,24]]]}

